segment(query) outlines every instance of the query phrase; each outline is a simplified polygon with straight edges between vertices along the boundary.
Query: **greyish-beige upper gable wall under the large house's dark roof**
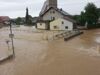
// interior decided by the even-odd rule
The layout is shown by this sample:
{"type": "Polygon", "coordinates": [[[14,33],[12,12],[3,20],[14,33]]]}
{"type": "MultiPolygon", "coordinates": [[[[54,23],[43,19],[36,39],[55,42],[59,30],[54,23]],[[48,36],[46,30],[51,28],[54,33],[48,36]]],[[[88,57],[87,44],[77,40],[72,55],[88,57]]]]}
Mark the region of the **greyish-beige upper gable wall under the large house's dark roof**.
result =
{"type": "Polygon", "coordinates": [[[63,15],[61,15],[59,12],[57,12],[54,9],[50,9],[44,16],[43,16],[43,20],[52,20],[51,17],[55,17],[55,19],[58,18],[63,18],[63,15]],[[53,13],[53,11],[55,13],[53,13]]]}

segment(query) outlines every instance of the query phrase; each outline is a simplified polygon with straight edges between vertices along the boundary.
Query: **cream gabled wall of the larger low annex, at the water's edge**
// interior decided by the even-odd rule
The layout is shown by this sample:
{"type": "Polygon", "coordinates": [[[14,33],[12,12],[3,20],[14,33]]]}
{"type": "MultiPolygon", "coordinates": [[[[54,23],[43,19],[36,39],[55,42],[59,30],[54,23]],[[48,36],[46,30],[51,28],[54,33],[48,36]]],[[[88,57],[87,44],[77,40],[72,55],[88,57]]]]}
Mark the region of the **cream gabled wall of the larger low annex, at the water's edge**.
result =
{"type": "Polygon", "coordinates": [[[73,23],[59,18],[50,23],[50,30],[73,30],[73,23]],[[62,22],[64,22],[64,24],[62,24],[62,22]],[[54,28],[54,26],[57,28],[54,28]],[[65,28],[66,26],[68,26],[68,29],[65,28]]]}

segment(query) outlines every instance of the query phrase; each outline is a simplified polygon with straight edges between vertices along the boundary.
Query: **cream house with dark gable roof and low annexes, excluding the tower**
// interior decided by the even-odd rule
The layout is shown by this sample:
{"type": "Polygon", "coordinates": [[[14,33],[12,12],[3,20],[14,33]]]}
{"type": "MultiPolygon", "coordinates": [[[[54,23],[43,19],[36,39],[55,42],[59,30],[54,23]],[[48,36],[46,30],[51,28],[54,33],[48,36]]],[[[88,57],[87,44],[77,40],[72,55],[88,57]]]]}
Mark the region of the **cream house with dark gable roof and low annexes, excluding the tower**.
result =
{"type": "MultiPolygon", "coordinates": [[[[76,21],[62,9],[50,7],[47,11],[40,15],[42,21],[49,20],[50,24],[48,29],[50,30],[73,30],[75,28],[76,21]]],[[[42,22],[37,24],[38,29],[47,29],[46,23],[42,22]],[[44,27],[43,27],[44,26],[44,27]]]]}

